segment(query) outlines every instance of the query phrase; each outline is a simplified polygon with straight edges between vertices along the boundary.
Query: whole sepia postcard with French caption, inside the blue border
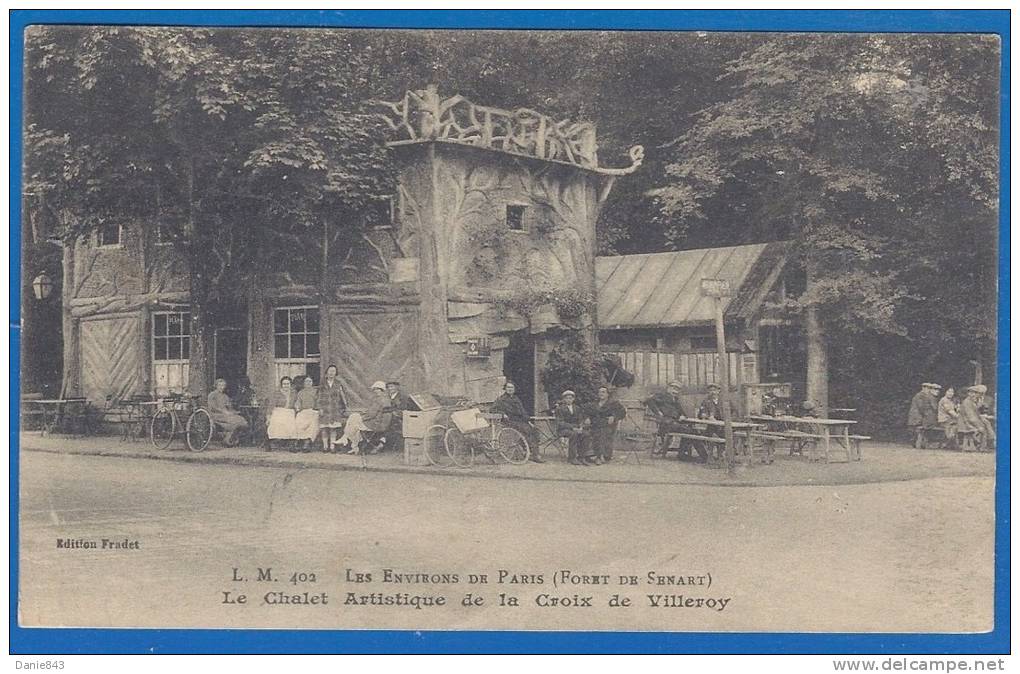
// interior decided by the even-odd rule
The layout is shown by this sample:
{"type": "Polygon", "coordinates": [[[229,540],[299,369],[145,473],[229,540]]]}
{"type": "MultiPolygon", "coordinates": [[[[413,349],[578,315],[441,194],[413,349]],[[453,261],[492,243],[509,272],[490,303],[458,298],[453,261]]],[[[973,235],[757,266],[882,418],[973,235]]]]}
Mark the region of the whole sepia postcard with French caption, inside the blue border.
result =
{"type": "Polygon", "coordinates": [[[21,49],[20,627],[1001,626],[1000,35],[21,49]]]}

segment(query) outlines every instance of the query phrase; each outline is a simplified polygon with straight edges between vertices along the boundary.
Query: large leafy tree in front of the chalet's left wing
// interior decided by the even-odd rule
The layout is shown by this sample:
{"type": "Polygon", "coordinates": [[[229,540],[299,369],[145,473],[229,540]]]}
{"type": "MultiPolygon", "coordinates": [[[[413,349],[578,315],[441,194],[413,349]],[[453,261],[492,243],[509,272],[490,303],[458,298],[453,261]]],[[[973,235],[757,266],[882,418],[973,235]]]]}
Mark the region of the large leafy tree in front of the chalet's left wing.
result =
{"type": "Polygon", "coordinates": [[[357,229],[392,193],[347,33],[44,27],[27,61],[27,189],[67,244],[109,218],[181,225],[197,392],[215,315],[288,262],[282,244],[357,229]]]}

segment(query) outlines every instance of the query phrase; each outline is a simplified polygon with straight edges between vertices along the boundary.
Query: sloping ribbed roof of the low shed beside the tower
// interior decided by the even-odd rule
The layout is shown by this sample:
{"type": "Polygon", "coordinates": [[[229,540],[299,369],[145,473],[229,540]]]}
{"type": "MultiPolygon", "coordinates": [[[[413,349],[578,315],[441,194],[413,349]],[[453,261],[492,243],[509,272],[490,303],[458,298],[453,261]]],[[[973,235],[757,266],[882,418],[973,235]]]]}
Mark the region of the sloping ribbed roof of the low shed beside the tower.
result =
{"type": "Polygon", "coordinates": [[[595,263],[599,324],[613,327],[673,327],[713,320],[702,278],[724,278],[727,318],[747,318],[774,282],[785,261],[785,242],[674,253],[600,257],[595,263]],[[769,282],[771,279],[771,282],[769,282]]]}

